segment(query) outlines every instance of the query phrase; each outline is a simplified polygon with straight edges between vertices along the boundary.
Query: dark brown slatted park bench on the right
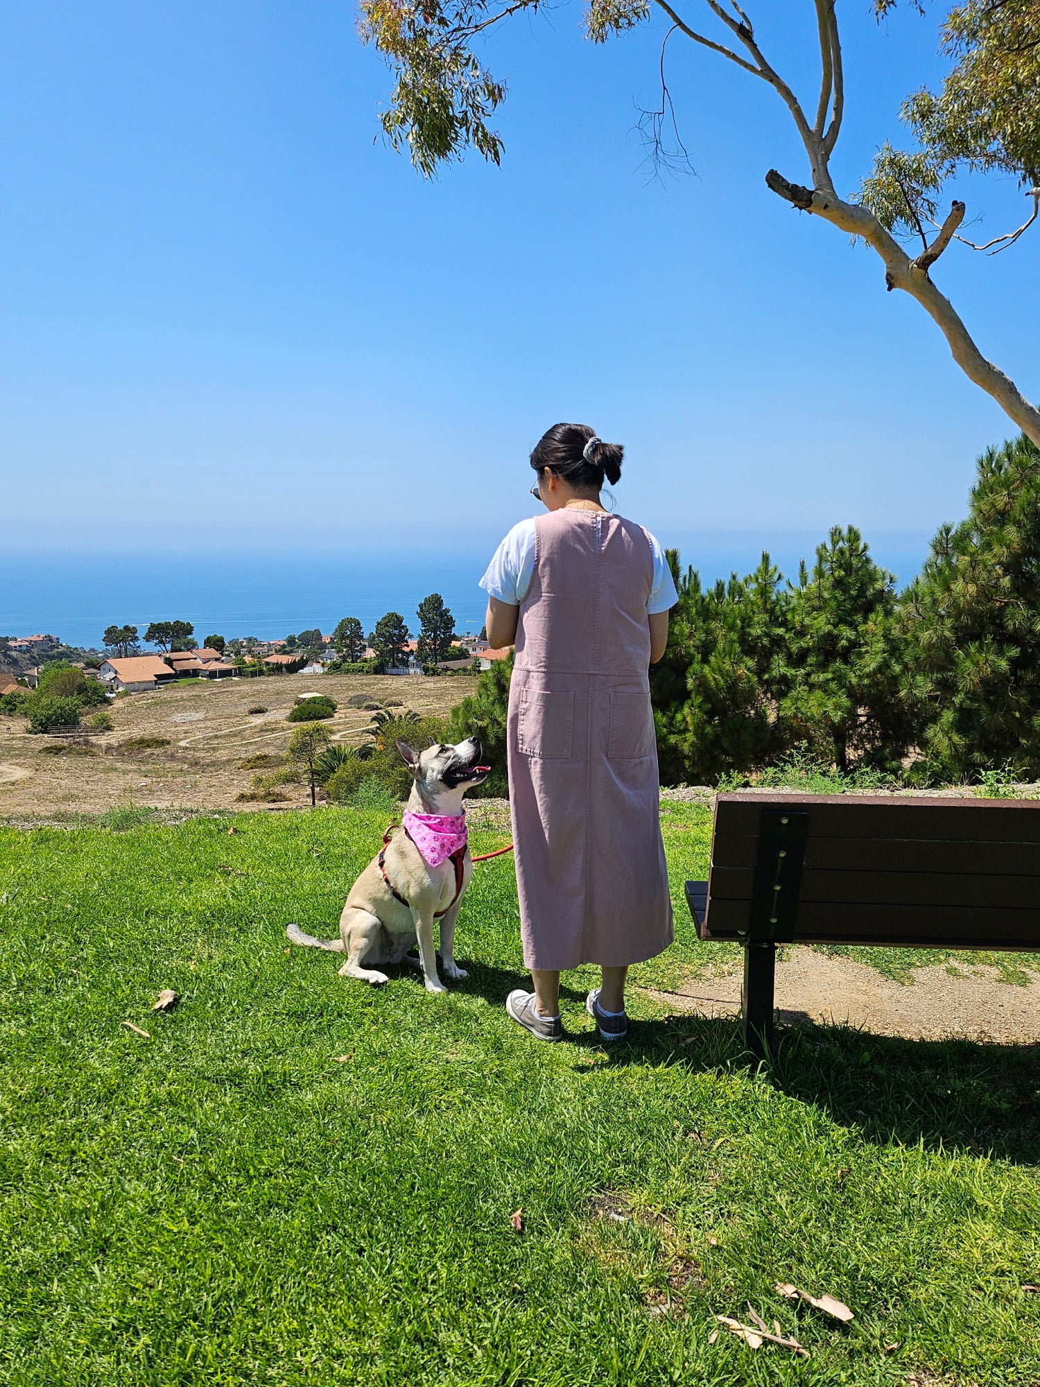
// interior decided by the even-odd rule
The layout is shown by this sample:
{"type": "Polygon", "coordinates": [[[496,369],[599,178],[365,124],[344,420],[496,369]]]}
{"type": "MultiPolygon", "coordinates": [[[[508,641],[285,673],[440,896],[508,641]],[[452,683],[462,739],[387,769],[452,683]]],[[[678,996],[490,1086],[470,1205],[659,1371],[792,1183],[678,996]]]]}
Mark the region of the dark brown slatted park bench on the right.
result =
{"type": "Polygon", "coordinates": [[[777,946],[1040,951],[1040,802],[720,795],[700,939],[743,945],[749,1049],[772,1042],[777,946]]]}

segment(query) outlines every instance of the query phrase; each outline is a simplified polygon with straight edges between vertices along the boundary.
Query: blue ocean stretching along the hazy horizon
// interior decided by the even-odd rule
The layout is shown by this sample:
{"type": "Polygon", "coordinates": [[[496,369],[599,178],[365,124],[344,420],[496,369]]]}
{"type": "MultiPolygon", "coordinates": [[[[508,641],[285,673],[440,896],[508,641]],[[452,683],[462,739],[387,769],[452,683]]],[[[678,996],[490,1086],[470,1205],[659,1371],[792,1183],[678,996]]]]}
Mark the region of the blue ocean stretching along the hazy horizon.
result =
{"type": "MultiPolygon", "coordinates": [[[[661,533],[661,542],[675,542],[661,533]]],[[[821,535],[782,535],[770,548],[786,574],[797,573],[801,555],[811,558],[821,535]]],[[[684,563],[693,562],[704,581],[732,569],[754,567],[760,535],[688,537],[684,563]]],[[[0,635],[47,632],[67,645],[101,646],[107,626],[136,626],[141,637],[150,621],[193,621],[197,637],[255,635],[277,639],[290,631],[319,627],[329,632],[340,617],[356,616],[370,631],[385,612],[399,612],[415,634],[416,606],[440,592],[455,616],[459,635],[484,624],[485,596],[477,587],[489,549],[416,556],[399,552],[306,553],[272,551],[227,552],[219,538],[204,553],[168,552],[168,537],[150,552],[128,552],[118,541],[103,541],[82,555],[0,555],[0,635]],[[111,552],[105,552],[111,551],[111,552]]],[[[924,538],[879,537],[872,544],[879,563],[908,581],[926,552],[924,538]]]]}

